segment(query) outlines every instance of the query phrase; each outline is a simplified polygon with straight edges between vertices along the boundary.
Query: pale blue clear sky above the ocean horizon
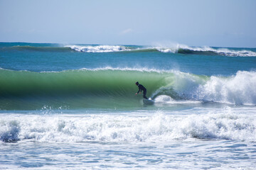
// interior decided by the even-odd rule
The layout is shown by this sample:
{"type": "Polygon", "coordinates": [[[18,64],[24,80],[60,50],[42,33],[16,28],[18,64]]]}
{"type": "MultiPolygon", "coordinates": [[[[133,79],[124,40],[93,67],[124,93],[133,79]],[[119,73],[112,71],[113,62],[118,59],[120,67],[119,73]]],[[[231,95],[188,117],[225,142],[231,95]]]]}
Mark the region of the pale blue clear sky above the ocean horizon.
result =
{"type": "Polygon", "coordinates": [[[0,42],[256,47],[256,1],[0,0],[0,42]]]}

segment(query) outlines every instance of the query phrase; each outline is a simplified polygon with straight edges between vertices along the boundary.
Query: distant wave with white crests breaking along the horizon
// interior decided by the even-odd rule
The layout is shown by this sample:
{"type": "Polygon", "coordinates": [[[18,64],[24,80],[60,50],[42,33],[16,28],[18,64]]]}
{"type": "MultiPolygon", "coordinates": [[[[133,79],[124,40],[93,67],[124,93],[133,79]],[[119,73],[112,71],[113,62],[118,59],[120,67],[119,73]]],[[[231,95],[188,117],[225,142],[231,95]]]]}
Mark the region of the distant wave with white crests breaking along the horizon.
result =
{"type": "Polygon", "coordinates": [[[139,46],[139,45],[58,45],[32,46],[14,45],[0,47],[0,50],[33,50],[40,52],[164,52],[183,55],[220,55],[228,57],[256,57],[256,49],[250,48],[223,48],[223,47],[176,47],[139,46]]]}

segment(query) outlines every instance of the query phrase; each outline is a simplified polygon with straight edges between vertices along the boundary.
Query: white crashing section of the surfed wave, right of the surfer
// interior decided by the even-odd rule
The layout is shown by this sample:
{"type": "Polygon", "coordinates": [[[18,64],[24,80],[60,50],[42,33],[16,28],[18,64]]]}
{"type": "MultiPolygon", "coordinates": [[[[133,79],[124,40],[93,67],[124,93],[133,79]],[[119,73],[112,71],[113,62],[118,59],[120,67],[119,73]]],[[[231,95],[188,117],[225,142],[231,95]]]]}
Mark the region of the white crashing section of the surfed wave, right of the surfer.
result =
{"type": "MultiPolygon", "coordinates": [[[[191,102],[211,101],[256,106],[256,72],[239,71],[231,77],[201,77],[174,72],[173,77],[166,77],[166,84],[154,92],[153,98],[166,94],[176,95],[191,102]]],[[[164,102],[162,99],[157,98],[159,102],[164,102]]],[[[180,101],[166,101],[175,102],[180,101]]]]}

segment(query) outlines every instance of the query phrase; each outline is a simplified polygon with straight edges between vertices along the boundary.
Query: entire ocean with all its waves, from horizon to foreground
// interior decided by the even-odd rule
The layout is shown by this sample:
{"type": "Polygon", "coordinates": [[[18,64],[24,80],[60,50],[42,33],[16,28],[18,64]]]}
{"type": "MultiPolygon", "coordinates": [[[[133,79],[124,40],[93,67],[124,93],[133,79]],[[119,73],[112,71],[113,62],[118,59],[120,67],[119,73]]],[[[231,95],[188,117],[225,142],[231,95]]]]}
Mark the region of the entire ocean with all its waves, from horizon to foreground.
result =
{"type": "Polygon", "coordinates": [[[256,169],[256,48],[1,42],[0,169],[28,168],[256,169]]]}

